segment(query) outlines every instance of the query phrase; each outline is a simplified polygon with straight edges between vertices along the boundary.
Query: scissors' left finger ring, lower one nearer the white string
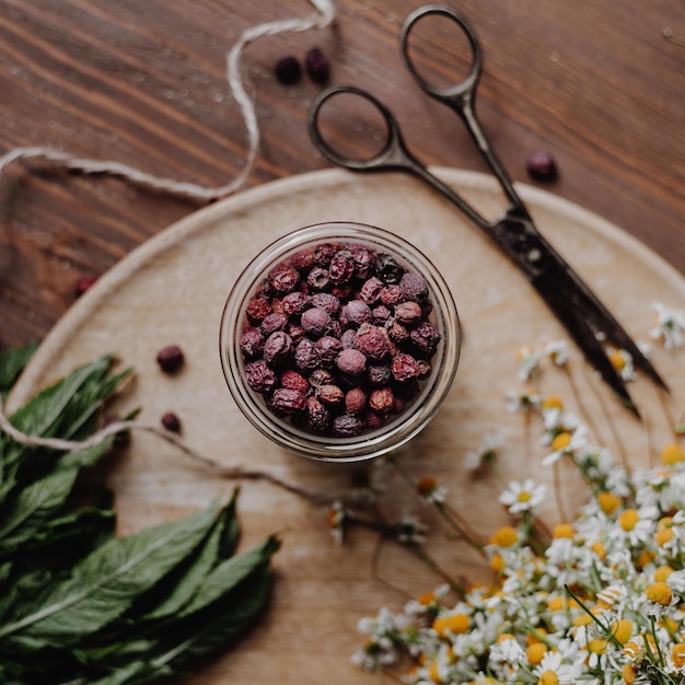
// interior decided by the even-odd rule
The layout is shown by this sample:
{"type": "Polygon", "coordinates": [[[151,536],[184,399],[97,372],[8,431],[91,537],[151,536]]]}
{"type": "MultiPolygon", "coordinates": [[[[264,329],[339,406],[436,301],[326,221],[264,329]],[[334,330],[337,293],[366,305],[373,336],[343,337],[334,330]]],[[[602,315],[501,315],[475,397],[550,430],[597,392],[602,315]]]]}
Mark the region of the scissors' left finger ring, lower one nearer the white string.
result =
{"type": "Polygon", "coordinates": [[[310,136],[316,148],[329,161],[350,169],[352,171],[375,171],[379,169],[387,169],[392,165],[406,163],[404,153],[404,142],[399,132],[399,126],[391,113],[391,111],[371,93],[355,88],[353,85],[336,85],[323,91],[313,102],[309,111],[307,127],[310,136]],[[321,131],[318,115],[322,108],[330,98],[342,94],[351,94],[362,97],[370,102],[383,117],[386,126],[385,142],[380,152],[364,159],[355,159],[352,156],[340,154],[327,141],[321,131]]]}

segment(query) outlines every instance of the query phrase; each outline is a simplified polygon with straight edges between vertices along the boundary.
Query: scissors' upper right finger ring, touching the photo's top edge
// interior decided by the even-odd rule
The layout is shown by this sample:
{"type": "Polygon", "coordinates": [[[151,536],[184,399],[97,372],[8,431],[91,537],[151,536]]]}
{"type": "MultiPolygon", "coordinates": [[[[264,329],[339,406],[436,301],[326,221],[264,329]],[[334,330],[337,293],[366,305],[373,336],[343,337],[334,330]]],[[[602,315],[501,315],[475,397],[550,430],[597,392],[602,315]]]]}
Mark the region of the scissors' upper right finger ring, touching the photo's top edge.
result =
{"type": "Polygon", "coordinates": [[[402,32],[399,34],[399,40],[402,46],[402,58],[406,68],[409,70],[414,80],[418,83],[419,88],[429,95],[437,97],[438,100],[460,100],[464,97],[471,97],[476,89],[480,72],[483,71],[483,49],[478,36],[471,24],[460,14],[456,10],[446,7],[444,4],[426,4],[418,10],[411,12],[405,20],[402,32]],[[454,22],[466,35],[472,51],[471,70],[465,79],[458,83],[453,83],[446,86],[438,86],[427,81],[417,70],[411,57],[409,55],[409,34],[411,30],[418,24],[419,21],[430,15],[446,16],[450,21],[454,22]]]}

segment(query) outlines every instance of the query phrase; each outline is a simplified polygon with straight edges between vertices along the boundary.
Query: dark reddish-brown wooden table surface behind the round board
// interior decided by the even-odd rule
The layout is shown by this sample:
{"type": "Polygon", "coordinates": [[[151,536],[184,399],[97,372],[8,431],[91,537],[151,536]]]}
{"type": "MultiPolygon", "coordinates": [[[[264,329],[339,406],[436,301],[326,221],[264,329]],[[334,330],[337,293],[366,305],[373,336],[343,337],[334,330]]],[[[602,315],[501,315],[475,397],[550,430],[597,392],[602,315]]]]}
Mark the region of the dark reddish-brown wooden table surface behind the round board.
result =
{"type": "MultiPolygon", "coordinates": [[[[397,112],[427,163],[484,171],[452,115],[419,94],[397,36],[407,0],[339,0],[335,25],[264,37],[242,73],[262,146],[244,187],[326,169],[305,117],[321,90],[283,85],[275,62],[314,46],[332,84],[397,112]]],[[[461,0],[485,49],[478,112],[514,181],[549,151],[546,188],[613,221],[685,272],[685,5],[682,0],[461,0]]],[[[0,154],[47,146],[207,186],[248,149],[225,78],[243,31],[306,16],[304,0],[0,0],[0,154]]],[[[429,57],[421,58],[429,59],[429,57]]],[[[106,177],[14,163],[0,181],[0,345],[42,338],[100,276],[198,206],[106,177]]]]}

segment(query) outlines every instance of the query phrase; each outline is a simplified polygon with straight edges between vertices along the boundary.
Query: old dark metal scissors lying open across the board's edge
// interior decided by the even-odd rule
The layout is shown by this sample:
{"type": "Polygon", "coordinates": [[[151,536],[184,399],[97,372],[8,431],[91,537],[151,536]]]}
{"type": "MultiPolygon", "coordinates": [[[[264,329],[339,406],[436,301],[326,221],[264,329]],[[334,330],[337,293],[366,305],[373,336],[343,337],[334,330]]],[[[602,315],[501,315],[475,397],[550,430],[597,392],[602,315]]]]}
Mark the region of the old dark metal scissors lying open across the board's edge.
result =
{"type": "Polygon", "coordinates": [[[425,164],[407,149],[397,120],[373,95],[355,86],[334,86],[314,100],[309,114],[309,129],[314,144],[332,162],[357,172],[400,171],[418,176],[449,200],[454,202],[476,225],[487,233],[503,252],[521,268],[539,295],[565,325],[585,358],[599,371],[620,400],[636,416],[638,410],[626,385],[612,364],[602,340],[627,351],[637,369],[645,371],[658,385],[666,384],[626,330],[597,297],[573,271],[557,251],[533,224],[531,216],[519,197],[507,172],[495,155],[474,111],[476,86],[483,71],[483,50],[468,22],[454,9],[428,4],[407,16],[400,32],[402,57],[419,88],[455,112],[464,121],[476,147],[485,158],[507,196],[509,207],[503,217],[488,221],[464,200],[454,189],[432,174],[425,164]],[[454,22],[466,35],[472,50],[471,70],[460,83],[437,86],[423,79],[409,56],[409,35],[417,23],[426,16],[439,15],[454,22]],[[320,125],[324,105],[341,94],[358,95],[371,103],[382,115],[386,126],[386,139],[376,154],[355,159],[337,152],[325,139],[320,125]]]}

